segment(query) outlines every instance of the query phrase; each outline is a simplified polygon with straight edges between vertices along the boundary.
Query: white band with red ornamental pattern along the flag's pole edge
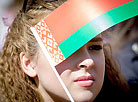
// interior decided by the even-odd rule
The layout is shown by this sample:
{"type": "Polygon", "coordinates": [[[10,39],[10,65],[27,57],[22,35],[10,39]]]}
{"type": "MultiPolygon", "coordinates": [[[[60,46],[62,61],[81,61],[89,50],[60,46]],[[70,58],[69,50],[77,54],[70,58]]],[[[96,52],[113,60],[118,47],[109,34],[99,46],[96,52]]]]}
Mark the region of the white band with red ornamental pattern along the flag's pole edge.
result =
{"type": "Polygon", "coordinates": [[[48,29],[45,21],[42,20],[41,22],[39,22],[35,26],[35,29],[54,63],[57,65],[61,63],[63,60],[65,60],[64,55],[62,54],[60,48],[58,47],[58,44],[55,41],[52,33],[48,29]]]}

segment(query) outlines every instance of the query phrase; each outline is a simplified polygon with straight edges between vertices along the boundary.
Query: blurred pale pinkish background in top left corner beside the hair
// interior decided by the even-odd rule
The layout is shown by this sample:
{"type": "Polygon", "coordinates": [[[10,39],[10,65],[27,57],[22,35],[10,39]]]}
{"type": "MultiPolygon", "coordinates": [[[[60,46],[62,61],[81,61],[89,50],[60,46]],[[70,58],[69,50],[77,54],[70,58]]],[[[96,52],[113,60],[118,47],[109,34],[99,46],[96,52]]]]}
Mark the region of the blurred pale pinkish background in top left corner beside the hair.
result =
{"type": "Polygon", "coordinates": [[[9,26],[22,8],[24,0],[0,0],[0,50],[9,26]]]}

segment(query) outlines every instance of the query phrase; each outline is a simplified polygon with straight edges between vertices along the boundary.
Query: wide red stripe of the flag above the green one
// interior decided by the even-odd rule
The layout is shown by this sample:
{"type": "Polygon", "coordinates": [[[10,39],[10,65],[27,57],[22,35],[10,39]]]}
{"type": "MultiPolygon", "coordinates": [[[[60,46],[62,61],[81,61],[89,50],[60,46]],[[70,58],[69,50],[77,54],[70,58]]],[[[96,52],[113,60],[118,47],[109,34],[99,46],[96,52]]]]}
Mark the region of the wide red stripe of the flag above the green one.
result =
{"type": "Polygon", "coordinates": [[[130,1],[132,0],[68,0],[44,21],[60,44],[94,18],[130,1]]]}

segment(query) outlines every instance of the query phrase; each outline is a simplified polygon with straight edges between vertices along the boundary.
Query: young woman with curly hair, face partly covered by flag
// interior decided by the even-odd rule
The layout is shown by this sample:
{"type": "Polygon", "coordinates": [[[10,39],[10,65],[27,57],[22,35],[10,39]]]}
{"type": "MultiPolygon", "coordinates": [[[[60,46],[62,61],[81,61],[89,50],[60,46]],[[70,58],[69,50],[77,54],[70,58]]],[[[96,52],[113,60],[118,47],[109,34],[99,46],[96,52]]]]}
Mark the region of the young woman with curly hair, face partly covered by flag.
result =
{"type": "MultiPolygon", "coordinates": [[[[62,3],[35,0],[15,18],[0,57],[1,102],[70,101],[30,31],[62,3]]],[[[102,88],[105,66],[113,83],[126,85],[108,54],[102,36],[98,35],[56,66],[75,102],[92,102],[96,98],[102,88]]]]}

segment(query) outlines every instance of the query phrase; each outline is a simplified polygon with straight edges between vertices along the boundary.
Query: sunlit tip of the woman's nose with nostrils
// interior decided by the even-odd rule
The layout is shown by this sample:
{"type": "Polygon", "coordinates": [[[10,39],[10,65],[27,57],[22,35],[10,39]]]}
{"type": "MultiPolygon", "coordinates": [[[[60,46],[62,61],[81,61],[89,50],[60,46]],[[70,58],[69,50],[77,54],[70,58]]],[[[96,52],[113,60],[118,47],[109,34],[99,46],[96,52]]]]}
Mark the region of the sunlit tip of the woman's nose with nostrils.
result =
{"type": "Polygon", "coordinates": [[[82,62],[80,62],[77,67],[79,69],[82,69],[82,68],[90,69],[90,68],[93,68],[93,66],[94,66],[94,61],[92,59],[85,59],[82,62]]]}

